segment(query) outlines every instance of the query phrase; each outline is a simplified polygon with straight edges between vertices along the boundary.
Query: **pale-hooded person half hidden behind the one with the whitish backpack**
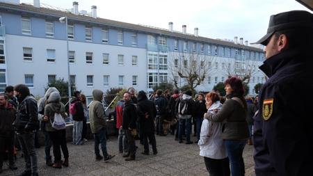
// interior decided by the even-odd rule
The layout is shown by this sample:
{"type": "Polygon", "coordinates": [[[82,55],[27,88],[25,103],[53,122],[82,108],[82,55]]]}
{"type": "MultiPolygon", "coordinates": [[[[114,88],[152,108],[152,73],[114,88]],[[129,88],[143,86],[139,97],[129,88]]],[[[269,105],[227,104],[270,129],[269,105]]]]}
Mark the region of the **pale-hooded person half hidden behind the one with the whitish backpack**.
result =
{"type": "Polygon", "coordinates": [[[45,117],[45,105],[47,102],[47,99],[51,95],[51,93],[58,92],[58,89],[51,87],[48,88],[48,90],[45,93],[45,96],[40,98],[37,102],[38,105],[38,120],[41,121],[40,123],[40,129],[44,132],[45,134],[45,159],[46,159],[46,165],[47,166],[52,166],[54,163],[52,163],[51,159],[51,154],[50,154],[50,149],[52,147],[52,142],[51,139],[49,138],[49,133],[45,130],[45,122],[43,121],[43,118],[45,117]]]}

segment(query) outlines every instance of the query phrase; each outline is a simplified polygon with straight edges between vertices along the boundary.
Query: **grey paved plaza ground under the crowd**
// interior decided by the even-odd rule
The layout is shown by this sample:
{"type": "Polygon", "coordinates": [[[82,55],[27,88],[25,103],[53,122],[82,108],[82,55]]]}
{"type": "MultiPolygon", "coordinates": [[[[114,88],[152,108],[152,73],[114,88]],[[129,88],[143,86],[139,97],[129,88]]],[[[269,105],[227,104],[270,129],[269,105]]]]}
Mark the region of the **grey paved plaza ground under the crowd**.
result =
{"type": "MultiPolygon", "coordinates": [[[[195,141],[195,137],[192,138],[195,141]]],[[[95,161],[93,153],[93,140],[85,145],[72,145],[67,143],[70,152],[70,167],[62,169],[51,168],[45,165],[44,147],[38,149],[39,175],[208,175],[204,160],[199,156],[199,147],[196,144],[186,145],[174,141],[174,136],[157,136],[158,154],[153,155],[150,146],[150,155],[141,154],[143,145],[136,141],[138,146],[136,161],[125,161],[118,152],[116,136],[107,142],[109,154],[116,156],[109,162],[95,161]]],[[[243,159],[246,166],[246,175],[254,174],[253,147],[246,145],[243,159]]],[[[51,150],[52,154],[52,150],[51,150]]],[[[24,159],[17,157],[18,170],[8,169],[8,162],[3,163],[3,175],[17,175],[23,171],[24,159]]]]}

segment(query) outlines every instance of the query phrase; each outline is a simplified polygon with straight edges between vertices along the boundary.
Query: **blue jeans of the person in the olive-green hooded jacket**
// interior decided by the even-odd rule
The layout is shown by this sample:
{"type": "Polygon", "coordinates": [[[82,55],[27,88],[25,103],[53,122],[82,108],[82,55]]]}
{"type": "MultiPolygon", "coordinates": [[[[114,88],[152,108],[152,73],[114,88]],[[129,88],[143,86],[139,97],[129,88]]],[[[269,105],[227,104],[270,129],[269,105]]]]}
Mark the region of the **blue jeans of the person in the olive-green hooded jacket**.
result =
{"type": "Polygon", "coordinates": [[[93,134],[93,137],[95,138],[95,155],[100,156],[100,144],[103,156],[108,157],[108,152],[106,150],[106,129],[100,129],[97,133],[93,134]]]}

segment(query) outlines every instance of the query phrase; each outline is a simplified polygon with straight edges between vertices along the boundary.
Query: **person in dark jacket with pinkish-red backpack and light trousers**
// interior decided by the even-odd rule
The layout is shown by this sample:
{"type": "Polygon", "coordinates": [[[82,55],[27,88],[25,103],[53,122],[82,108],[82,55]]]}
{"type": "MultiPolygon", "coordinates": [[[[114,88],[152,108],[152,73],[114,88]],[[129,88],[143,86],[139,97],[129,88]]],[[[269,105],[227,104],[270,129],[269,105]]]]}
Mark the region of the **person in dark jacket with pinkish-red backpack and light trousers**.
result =
{"type": "Polygon", "coordinates": [[[74,92],[74,98],[70,103],[70,114],[73,119],[73,144],[83,145],[83,138],[81,134],[83,133],[83,119],[85,118],[85,113],[83,113],[83,104],[79,99],[79,91],[74,92]]]}

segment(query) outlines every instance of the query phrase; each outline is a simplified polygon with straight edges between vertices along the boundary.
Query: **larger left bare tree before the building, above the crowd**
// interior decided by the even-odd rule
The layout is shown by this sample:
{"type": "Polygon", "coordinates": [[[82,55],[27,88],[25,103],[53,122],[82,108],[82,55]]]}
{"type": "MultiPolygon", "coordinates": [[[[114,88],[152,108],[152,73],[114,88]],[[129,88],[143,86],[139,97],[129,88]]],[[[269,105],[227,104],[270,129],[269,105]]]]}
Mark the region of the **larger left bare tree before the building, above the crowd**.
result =
{"type": "Polygon", "coordinates": [[[211,74],[211,63],[214,62],[214,56],[190,53],[170,53],[168,69],[172,74],[172,80],[175,87],[178,88],[177,77],[184,79],[186,85],[195,92],[205,78],[211,74]]]}

